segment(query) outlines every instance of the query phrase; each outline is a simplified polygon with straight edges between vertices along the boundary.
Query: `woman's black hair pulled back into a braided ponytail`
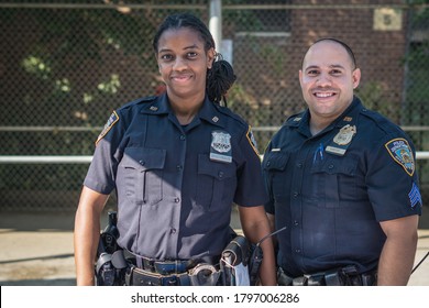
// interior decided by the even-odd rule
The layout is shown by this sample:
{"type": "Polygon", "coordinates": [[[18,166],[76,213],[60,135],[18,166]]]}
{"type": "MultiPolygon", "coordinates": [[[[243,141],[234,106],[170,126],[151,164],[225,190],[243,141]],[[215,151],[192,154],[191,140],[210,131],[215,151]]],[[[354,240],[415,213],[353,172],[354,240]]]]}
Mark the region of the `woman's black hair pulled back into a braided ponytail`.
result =
{"type": "MultiPolygon", "coordinates": [[[[210,48],[213,48],[216,52],[215,40],[207,25],[193,14],[178,13],[168,15],[160,25],[152,44],[155,54],[158,52],[161,35],[167,30],[180,28],[190,28],[198,32],[202,42],[205,42],[205,51],[208,52],[210,48]]],[[[221,54],[216,53],[212,67],[207,72],[206,89],[209,99],[216,103],[220,103],[223,99],[227,103],[226,95],[235,79],[237,76],[231,64],[224,61],[221,54]]]]}

